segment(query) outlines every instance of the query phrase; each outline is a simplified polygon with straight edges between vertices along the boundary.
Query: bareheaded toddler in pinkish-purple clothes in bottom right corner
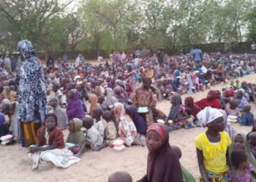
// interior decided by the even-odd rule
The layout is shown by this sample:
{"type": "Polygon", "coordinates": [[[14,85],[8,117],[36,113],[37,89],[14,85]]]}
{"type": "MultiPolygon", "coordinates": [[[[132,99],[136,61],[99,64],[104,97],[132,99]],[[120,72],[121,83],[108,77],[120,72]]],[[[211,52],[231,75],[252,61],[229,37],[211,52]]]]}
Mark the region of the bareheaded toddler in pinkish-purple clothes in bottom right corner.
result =
{"type": "MultiPolygon", "coordinates": [[[[231,153],[231,162],[236,169],[236,181],[251,181],[251,171],[255,167],[250,164],[249,155],[244,150],[236,150],[231,153]]],[[[232,175],[230,175],[232,177],[232,175]]],[[[231,179],[233,182],[233,179],[231,179]]]]}

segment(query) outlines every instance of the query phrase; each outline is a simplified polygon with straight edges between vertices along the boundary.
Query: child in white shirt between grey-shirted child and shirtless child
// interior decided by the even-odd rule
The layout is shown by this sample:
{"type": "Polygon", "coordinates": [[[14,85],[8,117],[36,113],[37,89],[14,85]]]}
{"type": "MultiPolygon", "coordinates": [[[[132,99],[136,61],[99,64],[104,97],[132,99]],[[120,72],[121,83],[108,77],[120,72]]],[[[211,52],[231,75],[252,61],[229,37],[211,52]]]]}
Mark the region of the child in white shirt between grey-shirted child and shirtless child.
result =
{"type": "Polygon", "coordinates": [[[94,108],[91,111],[91,117],[94,119],[94,127],[98,130],[99,134],[102,137],[105,137],[105,124],[102,122],[100,117],[102,116],[103,111],[101,108],[94,108]]]}

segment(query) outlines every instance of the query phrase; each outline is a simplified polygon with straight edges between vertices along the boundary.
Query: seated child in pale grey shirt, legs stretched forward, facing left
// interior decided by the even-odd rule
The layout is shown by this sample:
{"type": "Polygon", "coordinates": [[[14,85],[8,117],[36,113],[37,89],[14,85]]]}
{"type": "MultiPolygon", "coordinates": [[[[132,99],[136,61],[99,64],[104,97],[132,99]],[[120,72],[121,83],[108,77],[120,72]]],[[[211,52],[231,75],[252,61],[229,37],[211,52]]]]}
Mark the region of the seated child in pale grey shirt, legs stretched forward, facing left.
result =
{"type": "Polygon", "coordinates": [[[93,126],[94,119],[91,117],[85,117],[83,119],[83,127],[86,128],[86,141],[83,141],[82,146],[80,147],[75,157],[80,157],[80,154],[86,147],[97,147],[101,146],[103,143],[103,137],[99,134],[98,130],[93,126]]]}

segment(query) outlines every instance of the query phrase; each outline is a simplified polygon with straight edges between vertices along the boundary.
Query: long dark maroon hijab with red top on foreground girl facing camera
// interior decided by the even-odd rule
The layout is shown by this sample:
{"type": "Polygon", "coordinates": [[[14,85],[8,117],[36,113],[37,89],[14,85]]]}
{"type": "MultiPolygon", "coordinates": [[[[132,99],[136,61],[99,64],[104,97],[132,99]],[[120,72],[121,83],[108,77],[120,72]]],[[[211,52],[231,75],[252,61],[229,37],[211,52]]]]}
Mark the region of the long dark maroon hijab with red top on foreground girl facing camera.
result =
{"type": "MultiPolygon", "coordinates": [[[[182,182],[181,165],[175,151],[170,147],[167,127],[151,124],[147,133],[152,130],[162,138],[162,146],[157,151],[148,151],[146,181],[182,182]]],[[[144,178],[140,181],[144,181],[144,178]]]]}

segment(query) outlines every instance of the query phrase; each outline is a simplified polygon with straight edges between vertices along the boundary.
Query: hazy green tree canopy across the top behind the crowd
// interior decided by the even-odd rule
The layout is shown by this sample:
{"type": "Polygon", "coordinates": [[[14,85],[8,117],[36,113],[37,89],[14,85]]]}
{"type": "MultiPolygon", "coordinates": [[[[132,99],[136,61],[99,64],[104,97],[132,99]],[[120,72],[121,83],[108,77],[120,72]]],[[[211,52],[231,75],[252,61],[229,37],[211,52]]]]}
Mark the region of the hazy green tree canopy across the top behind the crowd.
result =
{"type": "Polygon", "coordinates": [[[256,41],[252,0],[0,0],[0,52],[15,52],[20,39],[37,51],[117,50],[256,41]]]}

